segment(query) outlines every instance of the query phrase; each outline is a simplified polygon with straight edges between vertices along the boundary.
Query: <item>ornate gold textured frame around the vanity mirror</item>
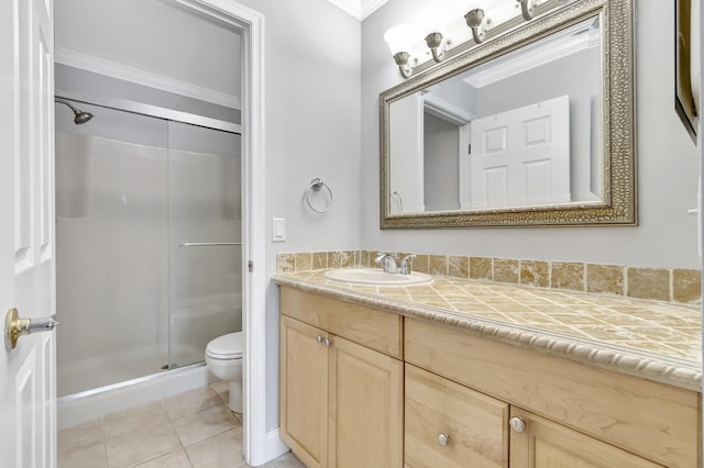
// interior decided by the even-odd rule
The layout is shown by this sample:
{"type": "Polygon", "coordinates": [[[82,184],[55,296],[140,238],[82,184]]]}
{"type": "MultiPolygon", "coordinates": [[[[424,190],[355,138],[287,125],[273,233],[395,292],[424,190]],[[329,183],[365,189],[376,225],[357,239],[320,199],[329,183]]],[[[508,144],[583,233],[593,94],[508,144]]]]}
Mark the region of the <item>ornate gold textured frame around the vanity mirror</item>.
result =
{"type": "Polygon", "coordinates": [[[380,94],[382,229],[636,225],[634,0],[579,0],[482,43],[380,94]],[[602,49],[603,197],[598,202],[392,213],[389,105],[408,94],[598,16],[602,49]]]}

